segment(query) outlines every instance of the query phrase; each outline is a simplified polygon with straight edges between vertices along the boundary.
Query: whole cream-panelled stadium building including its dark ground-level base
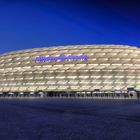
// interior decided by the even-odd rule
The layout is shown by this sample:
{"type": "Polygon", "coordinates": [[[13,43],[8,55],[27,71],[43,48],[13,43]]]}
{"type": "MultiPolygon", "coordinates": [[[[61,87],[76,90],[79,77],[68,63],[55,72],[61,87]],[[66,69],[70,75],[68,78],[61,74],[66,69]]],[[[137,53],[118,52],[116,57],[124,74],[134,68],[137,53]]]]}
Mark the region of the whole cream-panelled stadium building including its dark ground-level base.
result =
{"type": "Polygon", "coordinates": [[[1,96],[137,97],[139,91],[137,47],[57,46],[0,55],[1,96]]]}

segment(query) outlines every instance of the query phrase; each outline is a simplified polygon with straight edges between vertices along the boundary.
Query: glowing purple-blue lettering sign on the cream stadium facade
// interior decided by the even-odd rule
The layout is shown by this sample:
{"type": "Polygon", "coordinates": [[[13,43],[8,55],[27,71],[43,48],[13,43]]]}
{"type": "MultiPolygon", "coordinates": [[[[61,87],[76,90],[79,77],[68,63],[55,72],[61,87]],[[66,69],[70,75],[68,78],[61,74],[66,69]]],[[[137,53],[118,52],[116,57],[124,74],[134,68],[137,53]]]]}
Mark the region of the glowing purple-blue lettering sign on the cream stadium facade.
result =
{"type": "Polygon", "coordinates": [[[54,57],[54,56],[49,56],[49,57],[46,57],[46,56],[37,56],[35,59],[35,62],[36,63],[39,63],[39,62],[57,62],[57,61],[74,61],[74,60],[81,60],[81,61],[87,61],[88,60],[88,56],[86,55],[81,55],[81,56],[73,56],[73,55],[69,55],[69,56],[66,56],[65,54],[61,54],[60,56],[57,56],[57,57],[54,57]]]}

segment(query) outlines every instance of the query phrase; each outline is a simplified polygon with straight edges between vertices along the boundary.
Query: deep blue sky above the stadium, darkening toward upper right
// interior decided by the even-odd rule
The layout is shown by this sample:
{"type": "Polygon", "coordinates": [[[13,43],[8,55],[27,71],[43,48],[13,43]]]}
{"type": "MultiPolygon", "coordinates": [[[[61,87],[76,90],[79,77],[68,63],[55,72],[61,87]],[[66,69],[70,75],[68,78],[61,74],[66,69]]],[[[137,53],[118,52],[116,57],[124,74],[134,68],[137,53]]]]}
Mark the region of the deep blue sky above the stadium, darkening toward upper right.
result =
{"type": "Polygon", "coordinates": [[[0,53],[52,45],[140,47],[137,0],[0,0],[0,53]]]}

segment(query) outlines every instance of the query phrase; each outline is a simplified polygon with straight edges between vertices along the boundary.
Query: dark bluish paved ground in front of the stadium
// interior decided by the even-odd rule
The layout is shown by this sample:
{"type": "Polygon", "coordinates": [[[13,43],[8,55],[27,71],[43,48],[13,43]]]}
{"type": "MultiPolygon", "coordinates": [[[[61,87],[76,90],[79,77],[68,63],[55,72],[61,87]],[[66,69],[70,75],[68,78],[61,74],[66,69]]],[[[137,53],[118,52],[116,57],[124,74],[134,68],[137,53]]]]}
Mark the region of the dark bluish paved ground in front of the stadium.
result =
{"type": "Polygon", "coordinates": [[[140,100],[0,99],[0,140],[140,140],[140,100]]]}

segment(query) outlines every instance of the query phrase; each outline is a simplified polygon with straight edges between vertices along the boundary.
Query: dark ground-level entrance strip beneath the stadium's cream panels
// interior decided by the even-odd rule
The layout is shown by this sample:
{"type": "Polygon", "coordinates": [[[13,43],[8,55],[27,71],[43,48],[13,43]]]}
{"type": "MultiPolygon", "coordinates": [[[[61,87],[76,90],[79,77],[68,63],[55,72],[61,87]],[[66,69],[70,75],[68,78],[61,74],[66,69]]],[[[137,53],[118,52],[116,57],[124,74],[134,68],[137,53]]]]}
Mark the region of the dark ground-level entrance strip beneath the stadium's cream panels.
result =
{"type": "Polygon", "coordinates": [[[89,91],[38,91],[38,92],[1,92],[0,97],[15,97],[15,98],[26,98],[26,97],[57,97],[57,98],[115,98],[115,99],[137,99],[140,98],[140,92],[135,90],[127,91],[99,91],[95,90],[93,92],[89,91]]]}

